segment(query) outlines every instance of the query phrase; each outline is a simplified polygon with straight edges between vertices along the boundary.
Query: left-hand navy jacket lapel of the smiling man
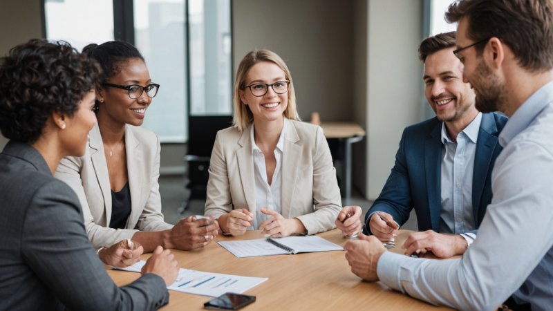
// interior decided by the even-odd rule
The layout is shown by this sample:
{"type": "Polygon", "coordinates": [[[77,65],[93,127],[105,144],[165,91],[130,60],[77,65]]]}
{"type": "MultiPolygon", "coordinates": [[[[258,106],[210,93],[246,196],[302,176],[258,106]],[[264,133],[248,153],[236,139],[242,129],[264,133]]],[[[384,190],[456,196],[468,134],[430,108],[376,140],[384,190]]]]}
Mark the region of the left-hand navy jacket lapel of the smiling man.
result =
{"type": "Polygon", "coordinates": [[[424,142],[424,170],[427,177],[427,196],[430,209],[432,229],[438,231],[441,213],[440,171],[442,161],[441,138],[442,122],[438,122],[430,133],[430,138],[424,142]]]}

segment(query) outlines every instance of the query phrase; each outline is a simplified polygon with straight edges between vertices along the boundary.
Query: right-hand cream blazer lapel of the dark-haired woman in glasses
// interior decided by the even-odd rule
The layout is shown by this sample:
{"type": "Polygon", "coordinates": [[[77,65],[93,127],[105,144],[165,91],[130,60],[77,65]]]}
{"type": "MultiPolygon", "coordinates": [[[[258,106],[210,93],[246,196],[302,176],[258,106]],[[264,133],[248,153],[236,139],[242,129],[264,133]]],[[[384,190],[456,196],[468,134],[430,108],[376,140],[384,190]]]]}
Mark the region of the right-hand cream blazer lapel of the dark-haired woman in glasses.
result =
{"type": "Polygon", "coordinates": [[[142,164],[144,153],[140,151],[141,148],[142,144],[133,135],[131,127],[125,125],[126,169],[129,178],[129,188],[131,189],[131,215],[126,220],[126,227],[129,227],[129,223],[135,224],[142,213],[140,205],[142,205],[142,183],[144,182],[145,172],[140,169],[144,167],[142,164]]]}

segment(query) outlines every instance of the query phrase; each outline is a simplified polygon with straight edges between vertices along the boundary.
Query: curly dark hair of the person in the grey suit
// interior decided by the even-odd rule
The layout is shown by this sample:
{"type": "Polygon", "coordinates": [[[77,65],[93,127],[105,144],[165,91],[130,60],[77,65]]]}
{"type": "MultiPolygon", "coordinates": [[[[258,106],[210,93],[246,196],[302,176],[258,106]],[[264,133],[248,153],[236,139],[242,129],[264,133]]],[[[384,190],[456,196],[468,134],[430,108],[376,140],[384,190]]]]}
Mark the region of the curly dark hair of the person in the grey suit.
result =
{"type": "Polygon", "coordinates": [[[64,41],[32,39],[0,59],[0,131],[32,143],[53,112],[69,117],[95,88],[100,66],[64,41]]]}

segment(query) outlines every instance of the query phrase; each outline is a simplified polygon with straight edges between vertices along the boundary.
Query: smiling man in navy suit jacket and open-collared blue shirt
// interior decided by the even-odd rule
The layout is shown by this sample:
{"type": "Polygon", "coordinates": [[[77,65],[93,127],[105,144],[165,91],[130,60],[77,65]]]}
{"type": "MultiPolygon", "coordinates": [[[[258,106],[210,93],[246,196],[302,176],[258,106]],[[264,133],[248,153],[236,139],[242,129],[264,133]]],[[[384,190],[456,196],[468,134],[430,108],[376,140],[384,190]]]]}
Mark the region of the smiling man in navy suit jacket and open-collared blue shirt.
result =
{"type": "MultiPolygon", "coordinates": [[[[420,232],[402,245],[408,256],[463,254],[491,201],[491,169],[507,117],[476,110],[474,91],[463,81],[463,65],[453,55],[455,47],[455,32],[420,44],[424,94],[436,116],[406,127],[386,185],[365,218],[365,234],[393,241],[414,208],[420,232]]],[[[346,236],[353,234],[359,230],[354,223],[360,214],[360,207],[344,207],[337,227],[346,236]]]]}

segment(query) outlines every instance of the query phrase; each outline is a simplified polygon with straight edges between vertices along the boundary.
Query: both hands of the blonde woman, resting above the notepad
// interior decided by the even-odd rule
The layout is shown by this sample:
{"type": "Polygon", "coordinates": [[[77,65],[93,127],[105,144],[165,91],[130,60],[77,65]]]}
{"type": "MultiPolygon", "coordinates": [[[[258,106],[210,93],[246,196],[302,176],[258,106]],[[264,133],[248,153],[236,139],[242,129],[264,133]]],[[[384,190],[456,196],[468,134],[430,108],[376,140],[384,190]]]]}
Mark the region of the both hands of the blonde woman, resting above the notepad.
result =
{"type": "MultiPolygon", "coordinates": [[[[306,228],[303,223],[297,218],[284,218],[277,211],[272,209],[261,208],[261,213],[270,216],[268,220],[259,224],[259,228],[262,234],[272,236],[275,238],[290,236],[292,234],[298,234],[306,232],[306,228]]],[[[223,229],[229,232],[233,236],[240,236],[245,234],[248,227],[252,226],[254,214],[247,209],[233,209],[229,214],[225,214],[219,218],[221,223],[224,223],[223,229]]]]}

